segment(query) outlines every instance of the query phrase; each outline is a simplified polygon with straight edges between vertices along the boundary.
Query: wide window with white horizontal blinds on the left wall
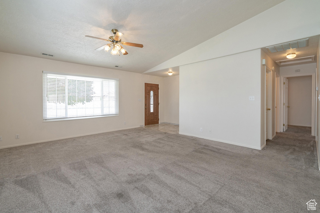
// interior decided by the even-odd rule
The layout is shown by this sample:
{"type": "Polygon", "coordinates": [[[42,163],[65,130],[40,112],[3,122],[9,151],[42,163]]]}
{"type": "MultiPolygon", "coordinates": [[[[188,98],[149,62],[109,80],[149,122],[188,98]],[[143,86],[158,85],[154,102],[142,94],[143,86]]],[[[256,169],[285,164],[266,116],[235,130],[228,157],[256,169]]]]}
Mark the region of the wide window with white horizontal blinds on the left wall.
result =
{"type": "Polygon", "coordinates": [[[119,79],[43,71],[43,120],[119,115],[119,79]]]}

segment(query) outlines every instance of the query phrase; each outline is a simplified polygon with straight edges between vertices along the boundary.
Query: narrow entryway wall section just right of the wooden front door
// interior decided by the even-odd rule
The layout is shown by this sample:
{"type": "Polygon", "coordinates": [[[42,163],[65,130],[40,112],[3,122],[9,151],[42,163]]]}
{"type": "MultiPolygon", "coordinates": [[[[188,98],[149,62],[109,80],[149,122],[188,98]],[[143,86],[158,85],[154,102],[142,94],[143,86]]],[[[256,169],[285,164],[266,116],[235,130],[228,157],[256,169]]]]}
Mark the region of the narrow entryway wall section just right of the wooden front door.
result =
{"type": "Polygon", "coordinates": [[[179,75],[164,78],[164,120],[179,124],[179,75]]]}

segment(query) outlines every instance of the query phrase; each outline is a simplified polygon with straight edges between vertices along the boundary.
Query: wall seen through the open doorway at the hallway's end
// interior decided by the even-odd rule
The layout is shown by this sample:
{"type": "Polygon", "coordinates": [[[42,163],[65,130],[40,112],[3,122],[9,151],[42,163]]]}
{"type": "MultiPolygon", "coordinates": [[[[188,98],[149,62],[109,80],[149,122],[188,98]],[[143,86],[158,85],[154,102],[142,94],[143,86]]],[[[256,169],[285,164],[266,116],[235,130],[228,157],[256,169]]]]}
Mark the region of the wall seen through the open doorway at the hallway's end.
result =
{"type": "Polygon", "coordinates": [[[288,124],[311,127],[312,76],[288,78],[288,124]]]}

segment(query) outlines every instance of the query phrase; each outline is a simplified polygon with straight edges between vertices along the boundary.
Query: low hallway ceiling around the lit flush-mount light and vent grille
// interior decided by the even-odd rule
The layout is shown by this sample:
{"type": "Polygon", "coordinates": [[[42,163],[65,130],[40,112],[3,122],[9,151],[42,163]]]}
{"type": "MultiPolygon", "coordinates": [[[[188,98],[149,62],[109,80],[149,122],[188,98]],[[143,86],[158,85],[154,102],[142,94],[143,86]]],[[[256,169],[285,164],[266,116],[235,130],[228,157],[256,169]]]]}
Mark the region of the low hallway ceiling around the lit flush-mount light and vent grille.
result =
{"type": "MultiPolygon", "coordinates": [[[[301,38],[301,39],[305,39],[305,38],[301,38]]],[[[288,41],[285,43],[289,43],[289,42],[292,42],[292,41],[288,41]]],[[[296,48],[296,49],[292,49],[292,50],[273,52],[273,53],[270,53],[267,50],[267,48],[262,48],[262,51],[264,51],[274,61],[287,60],[287,54],[292,53],[292,52],[295,52],[297,55],[295,57],[295,59],[314,55],[315,56],[314,61],[302,63],[302,64],[308,64],[308,63],[316,63],[318,44],[319,44],[319,35],[315,35],[315,36],[308,38],[308,46],[307,47],[301,47],[301,48],[296,48]]],[[[274,45],[276,45],[276,44],[274,44],[274,45]]],[[[297,64],[292,64],[292,65],[297,65],[297,64]]],[[[281,65],[280,67],[287,67],[287,66],[292,66],[292,65],[281,65]]]]}

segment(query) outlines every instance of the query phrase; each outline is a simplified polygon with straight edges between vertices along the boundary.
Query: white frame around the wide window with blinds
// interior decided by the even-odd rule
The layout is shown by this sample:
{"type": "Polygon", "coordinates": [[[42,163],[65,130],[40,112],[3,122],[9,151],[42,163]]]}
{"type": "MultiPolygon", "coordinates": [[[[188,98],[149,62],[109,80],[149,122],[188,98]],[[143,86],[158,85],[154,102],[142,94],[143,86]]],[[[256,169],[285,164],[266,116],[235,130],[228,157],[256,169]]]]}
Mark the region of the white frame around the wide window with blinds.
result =
{"type": "MultiPolygon", "coordinates": [[[[43,74],[54,74],[54,75],[69,75],[69,76],[79,76],[79,77],[88,77],[88,78],[99,78],[99,79],[108,79],[108,80],[116,80],[118,81],[118,114],[106,114],[106,115],[85,115],[85,116],[78,116],[78,117],[66,117],[66,118],[48,118],[44,119],[44,91],[42,94],[42,122],[52,122],[52,121],[64,121],[64,120],[76,120],[76,119],[86,119],[86,118],[100,118],[100,117],[112,117],[112,116],[119,116],[120,114],[120,104],[119,104],[119,79],[118,78],[106,78],[106,77],[100,77],[100,76],[93,76],[93,75],[80,75],[80,74],[73,74],[73,73],[60,73],[60,72],[51,72],[51,71],[42,71],[43,74]]],[[[44,90],[44,82],[42,77],[42,90],[44,90]]]]}

